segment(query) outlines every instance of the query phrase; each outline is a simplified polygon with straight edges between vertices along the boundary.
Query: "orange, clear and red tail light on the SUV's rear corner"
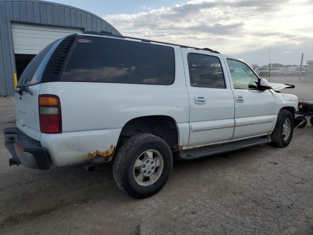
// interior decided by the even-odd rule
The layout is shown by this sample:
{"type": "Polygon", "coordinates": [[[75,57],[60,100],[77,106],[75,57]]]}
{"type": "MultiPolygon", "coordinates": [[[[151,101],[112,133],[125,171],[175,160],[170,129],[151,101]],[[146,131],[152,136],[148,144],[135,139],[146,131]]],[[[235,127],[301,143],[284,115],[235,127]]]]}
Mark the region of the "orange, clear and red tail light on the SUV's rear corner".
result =
{"type": "Polygon", "coordinates": [[[46,134],[62,132],[60,99],[56,95],[39,95],[40,131],[46,134]]]}

